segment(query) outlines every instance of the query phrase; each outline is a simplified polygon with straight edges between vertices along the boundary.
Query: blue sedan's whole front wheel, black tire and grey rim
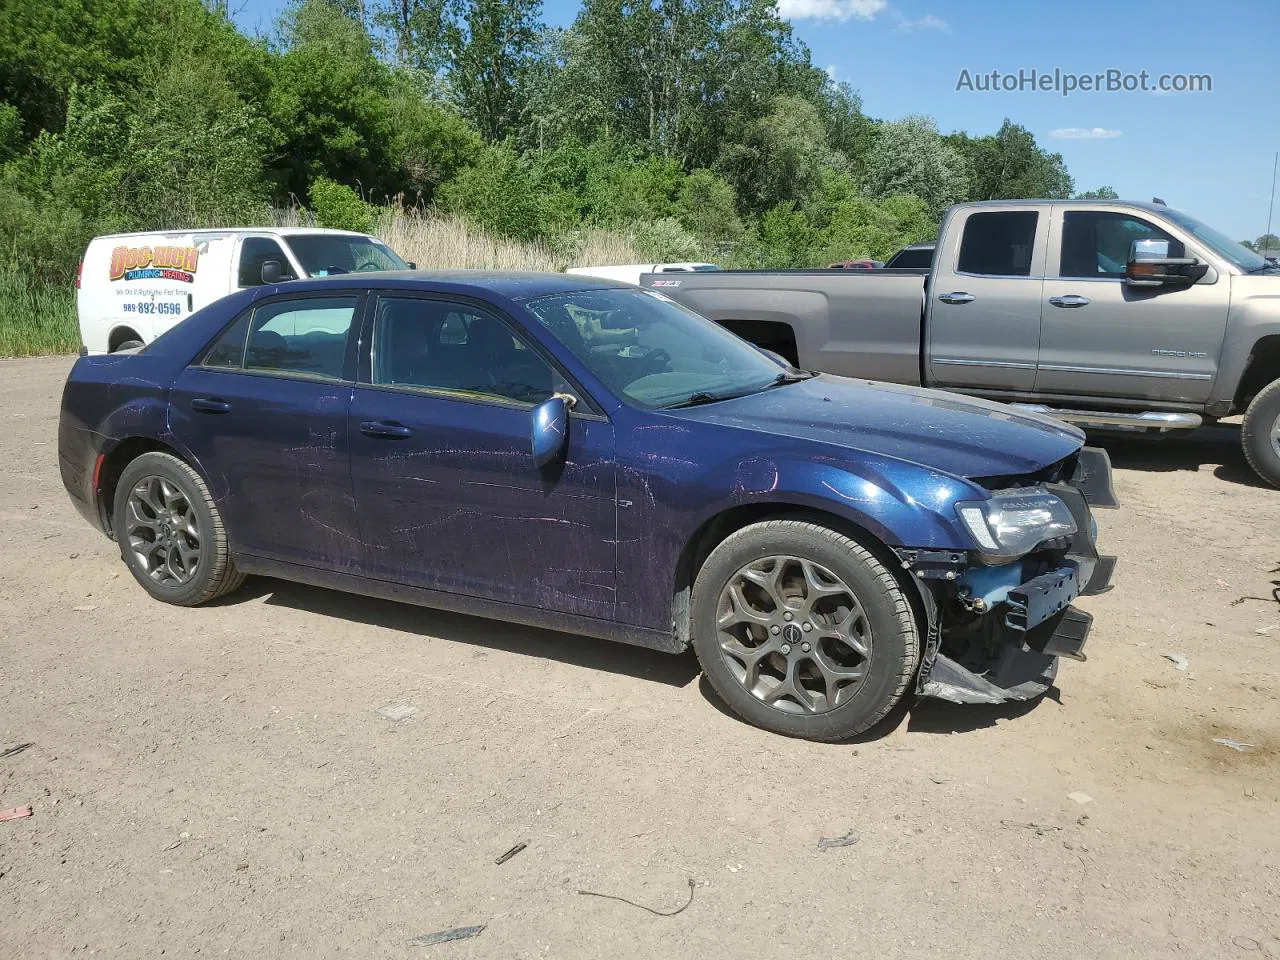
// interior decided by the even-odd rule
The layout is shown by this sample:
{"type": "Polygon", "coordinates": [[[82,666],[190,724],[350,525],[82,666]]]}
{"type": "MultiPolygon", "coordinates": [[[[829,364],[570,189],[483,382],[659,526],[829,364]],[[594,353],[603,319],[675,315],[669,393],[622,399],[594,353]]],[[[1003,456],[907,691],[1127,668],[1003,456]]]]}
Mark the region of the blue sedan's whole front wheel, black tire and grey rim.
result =
{"type": "Polygon", "coordinates": [[[902,699],[920,634],[893,573],[818,524],[769,520],[703,563],[692,643],[707,680],[742,719],[806,740],[847,740],[902,699]]]}

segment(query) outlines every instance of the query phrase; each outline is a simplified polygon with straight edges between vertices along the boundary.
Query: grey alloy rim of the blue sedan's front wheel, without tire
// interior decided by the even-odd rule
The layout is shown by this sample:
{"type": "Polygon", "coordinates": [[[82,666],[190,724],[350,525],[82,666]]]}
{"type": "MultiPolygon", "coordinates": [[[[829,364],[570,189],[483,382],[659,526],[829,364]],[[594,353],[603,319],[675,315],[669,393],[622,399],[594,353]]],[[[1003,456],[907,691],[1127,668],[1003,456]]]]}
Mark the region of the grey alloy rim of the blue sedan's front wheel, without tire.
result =
{"type": "Polygon", "coordinates": [[[751,561],[716,612],[719,650],[737,681],[785,713],[827,713],[867,676],[872,627],[844,580],[803,557],[751,561]]]}

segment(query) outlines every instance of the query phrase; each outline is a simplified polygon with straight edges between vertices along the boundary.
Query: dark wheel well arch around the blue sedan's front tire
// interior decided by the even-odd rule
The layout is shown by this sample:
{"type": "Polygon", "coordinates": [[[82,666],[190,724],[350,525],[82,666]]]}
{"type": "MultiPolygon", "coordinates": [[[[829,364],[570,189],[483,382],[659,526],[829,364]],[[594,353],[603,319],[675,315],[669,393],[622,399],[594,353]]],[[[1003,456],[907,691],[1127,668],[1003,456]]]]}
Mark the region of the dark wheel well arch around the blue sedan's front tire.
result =
{"type": "Polygon", "coordinates": [[[902,582],[901,561],[888,548],[888,545],[882,543],[865,527],[841,517],[838,513],[828,513],[827,511],[813,507],[799,507],[790,503],[751,503],[742,507],[732,507],[731,509],[717,513],[714,517],[705,521],[698,527],[698,530],[694,531],[694,535],[689,538],[689,543],[685,544],[685,548],[680,552],[680,557],[676,559],[676,581],[672,594],[672,626],[675,628],[676,640],[681,645],[687,646],[690,641],[690,596],[692,594],[694,579],[698,576],[698,571],[701,570],[703,563],[710,556],[712,550],[719,547],[721,543],[730,536],[730,534],[733,534],[745,526],[759,524],[764,520],[781,520],[783,517],[787,520],[808,520],[812,524],[818,524],[819,526],[828,527],[858,540],[858,543],[874,553],[876,558],[899,577],[899,584],[902,586],[904,593],[906,593],[908,600],[911,602],[913,608],[918,607],[919,598],[916,596],[916,591],[909,589],[908,585],[902,582]]]}

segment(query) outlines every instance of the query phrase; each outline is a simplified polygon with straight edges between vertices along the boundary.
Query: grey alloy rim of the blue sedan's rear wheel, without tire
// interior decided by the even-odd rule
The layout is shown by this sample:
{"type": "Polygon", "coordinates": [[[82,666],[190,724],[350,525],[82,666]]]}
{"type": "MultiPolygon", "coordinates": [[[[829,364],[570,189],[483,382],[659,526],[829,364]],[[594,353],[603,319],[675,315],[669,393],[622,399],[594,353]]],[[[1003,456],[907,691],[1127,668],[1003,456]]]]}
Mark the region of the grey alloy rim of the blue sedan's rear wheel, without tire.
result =
{"type": "Polygon", "coordinates": [[[129,549],[138,566],[165,586],[182,586],[200,566],[200,524],[187,494],[163,476],[145,476],[125,504],[129,549]]]}

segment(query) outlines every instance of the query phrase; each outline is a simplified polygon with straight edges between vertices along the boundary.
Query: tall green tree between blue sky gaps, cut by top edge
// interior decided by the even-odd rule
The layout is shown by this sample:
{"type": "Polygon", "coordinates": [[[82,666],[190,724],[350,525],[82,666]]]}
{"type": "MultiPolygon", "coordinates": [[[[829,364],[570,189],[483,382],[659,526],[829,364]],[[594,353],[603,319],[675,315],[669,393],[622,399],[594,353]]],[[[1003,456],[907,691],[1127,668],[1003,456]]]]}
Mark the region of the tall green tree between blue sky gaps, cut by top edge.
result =
{"type": "Polygon", "coordinates": [[[449,86],[489,141],[515,132],[541,24],[541,0],[451,0],[449,86]]]}

